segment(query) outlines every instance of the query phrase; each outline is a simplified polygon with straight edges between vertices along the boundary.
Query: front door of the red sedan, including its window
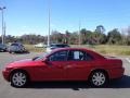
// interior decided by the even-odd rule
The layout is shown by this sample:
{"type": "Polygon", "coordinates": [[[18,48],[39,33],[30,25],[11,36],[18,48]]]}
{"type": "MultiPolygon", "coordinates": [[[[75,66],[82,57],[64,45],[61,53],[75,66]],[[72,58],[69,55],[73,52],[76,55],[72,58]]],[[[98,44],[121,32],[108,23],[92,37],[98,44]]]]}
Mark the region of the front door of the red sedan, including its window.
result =
{"type": "Polygon", "coordinates": [[[63,81],[66,78],[64,66],[67,63],[67,50],[58,51],[48,58],[48,68],[42,70],[42,78],[63,81]]]}

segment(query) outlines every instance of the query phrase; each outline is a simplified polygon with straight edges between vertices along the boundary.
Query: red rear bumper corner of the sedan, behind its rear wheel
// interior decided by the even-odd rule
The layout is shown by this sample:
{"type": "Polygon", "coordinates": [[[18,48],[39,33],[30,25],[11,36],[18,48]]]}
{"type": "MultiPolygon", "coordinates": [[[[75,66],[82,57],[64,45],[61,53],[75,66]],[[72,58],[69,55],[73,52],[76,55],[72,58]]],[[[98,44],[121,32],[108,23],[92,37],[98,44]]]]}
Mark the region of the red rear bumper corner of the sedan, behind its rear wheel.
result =
{"type": "Polygon", "coordinates": [[[123,76],[125,73],[125,68],[116,68],[116,69],[112,69],[109,71],[109,78],[114,79],[114,78],[121,78],[123,76]]]}

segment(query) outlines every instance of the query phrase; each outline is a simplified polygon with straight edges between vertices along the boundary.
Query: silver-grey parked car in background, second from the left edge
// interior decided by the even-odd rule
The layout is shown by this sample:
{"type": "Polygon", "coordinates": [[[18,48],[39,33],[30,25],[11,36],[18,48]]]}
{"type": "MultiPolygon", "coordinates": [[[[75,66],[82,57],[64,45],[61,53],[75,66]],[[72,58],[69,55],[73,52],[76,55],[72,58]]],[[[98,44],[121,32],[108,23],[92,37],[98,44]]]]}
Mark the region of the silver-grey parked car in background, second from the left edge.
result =
{"type": "Polygon", "coordinates": [[[25,49],[25,47],[21,44],[21,42],[13,42],[9,46],[8,51],[10,53],[14,52],[14,53],[22,53],[22,52],[27,52],[27,50],[25,49]]]}

